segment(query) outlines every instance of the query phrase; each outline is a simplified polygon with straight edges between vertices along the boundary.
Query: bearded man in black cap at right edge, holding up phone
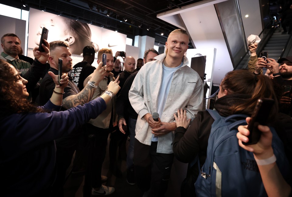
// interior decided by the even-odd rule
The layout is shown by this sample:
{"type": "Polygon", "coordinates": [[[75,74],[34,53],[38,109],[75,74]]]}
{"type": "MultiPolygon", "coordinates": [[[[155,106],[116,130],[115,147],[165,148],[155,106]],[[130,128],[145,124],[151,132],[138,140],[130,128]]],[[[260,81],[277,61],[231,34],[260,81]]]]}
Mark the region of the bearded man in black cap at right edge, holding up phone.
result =
{"type": "MultiPolygon", "coordinates": [[[[280,99],[280,112],[288,114],[292,117],[292,105],[291,105],[291,98],[292,98],[292,56],[289,57],[282,57],[276,62],[276,60],[267,58],[265,61],[263,58],[258,58],[256,63],[258,67],[266,67],[273,73],[273,80],[276,82],[280,87],[282,87],[282,95],[280,99]]],[[[279,92],[279,90],[276,90],[279,92]]]]}

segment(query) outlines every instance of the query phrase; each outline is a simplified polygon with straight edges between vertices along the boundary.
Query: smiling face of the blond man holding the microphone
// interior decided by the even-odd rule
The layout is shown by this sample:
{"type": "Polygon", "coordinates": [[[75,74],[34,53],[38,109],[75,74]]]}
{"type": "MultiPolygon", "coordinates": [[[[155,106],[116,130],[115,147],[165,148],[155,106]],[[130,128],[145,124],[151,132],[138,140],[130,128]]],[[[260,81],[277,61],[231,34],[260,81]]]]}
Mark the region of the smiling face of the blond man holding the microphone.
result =
{"type": "Polygon", "coordinates": [[[182,59],[188,49],[189,36],[182,33],[171,33],[165,43],[167,56],[174,59],[182,59]]]}

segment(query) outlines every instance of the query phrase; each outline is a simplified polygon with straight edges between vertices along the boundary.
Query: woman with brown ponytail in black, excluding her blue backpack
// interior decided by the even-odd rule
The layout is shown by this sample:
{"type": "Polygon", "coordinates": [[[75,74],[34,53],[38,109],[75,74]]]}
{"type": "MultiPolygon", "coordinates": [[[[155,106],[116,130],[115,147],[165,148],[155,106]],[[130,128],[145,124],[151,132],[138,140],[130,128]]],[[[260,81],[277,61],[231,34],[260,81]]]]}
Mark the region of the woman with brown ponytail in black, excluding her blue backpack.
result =
{"type": "MultiPolygon", "coordinates": [[[[215,101],[214,109],[223,117],[228,117],[233,114],[251,116],[258,99],[277,99],[273,90],[272,81],[269,78],[264,75],[255,76],[247,70],[228,72],[222,80],[219,89],[218,99],[215,101]]],[[[277,112],[277,105],[273,105],[267,122],[273,123],[277,112]]],[[[189,126],[190,120],[184,118],[182,109],[180,111],[178,110],[178,116],[174,116],[176,118],[177,129],[173,142],[173,152],[179,161],[189,163],[187,177],[182,185],[181,195],[182,197],[196,196],[194,183],[199,175],[196,157],[198,156],[200,168],[202,168],[208,156],[208,140],[214,118],[212,118],[209,112],[200,111],[189,126]]],[[[229,163],[228,165],[236,164],[229,163]]],[[[257,171],[256,164],[253,161],[246,161],[242,166],[251,171],[257,171]]],[[[213,168],[213,166],[210,166],[210,168],[213,168]]],[[[208,179],[208,176],[210,175],[207,173],[205,178],[208,179]]],[[[222,185],[223,187],[226,188],[226,185],[222,185]]],[[[231,196],[236,195],[231,194],[231,196]]],[[[266,196],[266,194],[263,196],[266,196]]]]}

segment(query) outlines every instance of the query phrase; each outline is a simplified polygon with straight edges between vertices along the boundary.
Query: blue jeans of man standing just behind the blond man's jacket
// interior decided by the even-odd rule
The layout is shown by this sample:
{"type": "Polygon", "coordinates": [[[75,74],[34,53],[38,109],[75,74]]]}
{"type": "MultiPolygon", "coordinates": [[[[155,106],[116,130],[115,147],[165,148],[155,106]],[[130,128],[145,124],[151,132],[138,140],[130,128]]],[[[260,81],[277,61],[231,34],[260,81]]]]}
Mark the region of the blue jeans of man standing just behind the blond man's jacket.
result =
{"type": "Polygon", "coordinates": [[[127,169],[134,168],[134,141],[135,141],[135,128],[137,119],[129,118],[129,133],[130,133],[130,145],[127,154],[127,169]]]}

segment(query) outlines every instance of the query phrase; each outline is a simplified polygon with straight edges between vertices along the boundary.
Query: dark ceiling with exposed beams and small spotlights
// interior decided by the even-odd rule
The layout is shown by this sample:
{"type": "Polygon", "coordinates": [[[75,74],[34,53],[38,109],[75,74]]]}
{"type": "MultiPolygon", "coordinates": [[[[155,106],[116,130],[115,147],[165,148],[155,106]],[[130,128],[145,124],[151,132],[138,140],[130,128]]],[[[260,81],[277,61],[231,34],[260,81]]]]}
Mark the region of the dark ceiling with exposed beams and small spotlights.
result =
{"type": "MultiPolygon", "coordinates": [[[[28,10],[35,8],[78,19],[111,30],[118,30],[134,40],[134,36],[151,36],[164,44],[168,34],[177,29],[156,16],[200,0],[0,0],[0,3],[28,10]],[[26,5],[26,7],[23,7],[26,5]],[[109,15],[109,16],[107,16],[109,15]],[[127,21],[126,21],[127,20],[127,21]],[[161,33],[164,33],[162,36],[161,33]]],[[[189,48],[193,48],[189,43],[189,48]]]]}

